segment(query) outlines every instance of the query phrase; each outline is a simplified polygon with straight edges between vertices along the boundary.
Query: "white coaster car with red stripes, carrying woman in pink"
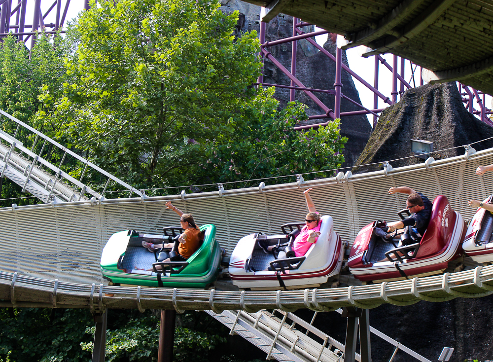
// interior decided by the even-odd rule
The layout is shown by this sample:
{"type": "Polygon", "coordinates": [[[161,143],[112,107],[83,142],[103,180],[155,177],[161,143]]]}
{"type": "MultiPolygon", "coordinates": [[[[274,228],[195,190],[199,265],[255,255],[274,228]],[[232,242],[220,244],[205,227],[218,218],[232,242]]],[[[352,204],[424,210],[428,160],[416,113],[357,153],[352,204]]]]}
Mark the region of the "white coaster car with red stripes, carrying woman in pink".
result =
{"type": "Polygon", "coordinates": [[[243,237],[231,254],[229,274],[240,289],[299,289],[318,287],[341,270],[344,257],[343,242],[334,231],[332,217],[321,217],[320,236],[304,256],[296,257],[286,249],[286,257],[278,259],[265,253],[259,241],[267,245],[288,245],[294,242],[303,224],[284,224],[282,234],[254,233],[243,237]],[[265,270],[267,268],[272,270],[265,270]]]}

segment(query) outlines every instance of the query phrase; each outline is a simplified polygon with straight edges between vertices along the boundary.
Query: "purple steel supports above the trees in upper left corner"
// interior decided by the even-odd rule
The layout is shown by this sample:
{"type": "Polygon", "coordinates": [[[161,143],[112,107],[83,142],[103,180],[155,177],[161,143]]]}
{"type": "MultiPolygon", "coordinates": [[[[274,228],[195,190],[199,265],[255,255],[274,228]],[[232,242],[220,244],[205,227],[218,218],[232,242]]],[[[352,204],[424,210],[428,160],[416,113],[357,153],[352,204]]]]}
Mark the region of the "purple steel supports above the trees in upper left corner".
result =
{"type": "MultiPolygon", "coordinates": [[[[55,34],[63,28],[70,0],[44,0],[50,3],[49,8],[43,13],[41,11],[42,0],[0,0],[0,40],[10,33],[17,36],[17,41],[27,44],[31,38],[31,48],[35,42],[36,31],[44,30],[46,34],[55,34]],[[65,2],[65,4],[62,4],[65,2]],[[51,11],[56,8],[55,23],[46,24],[44,21],[51,11]],[[26,10],[33,13],[33,22],[26,22],[26,10]]],[[[89,0],[84,0],[84,9],[89,8],[89,0]]]]}

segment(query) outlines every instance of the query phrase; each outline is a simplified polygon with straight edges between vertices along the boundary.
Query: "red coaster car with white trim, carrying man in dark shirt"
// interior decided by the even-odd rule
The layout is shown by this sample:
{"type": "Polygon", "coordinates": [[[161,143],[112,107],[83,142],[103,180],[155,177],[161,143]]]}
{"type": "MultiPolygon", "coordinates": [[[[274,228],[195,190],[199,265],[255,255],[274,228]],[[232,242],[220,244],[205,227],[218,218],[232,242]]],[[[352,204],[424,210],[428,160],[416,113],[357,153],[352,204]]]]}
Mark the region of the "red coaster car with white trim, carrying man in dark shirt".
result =
{"type": "MultiPolygon", "coordinates": [[[[398,213],[401,218],[404,218],[404,211],[407,210],[398,213]]],[[[385,242],[374,232],[377,225],[382,227],[386,223],[375,221],[363,227],[351,248],[349,269],[361,281],[437,274],[447,268],[449,261],[462,254],[465,223],[443,195],[433,201],[430,222],[422,238],[408,226],[398,230],[396,237],[400,237],[400,242],[396,242],[396,238],[385,242]]]]}

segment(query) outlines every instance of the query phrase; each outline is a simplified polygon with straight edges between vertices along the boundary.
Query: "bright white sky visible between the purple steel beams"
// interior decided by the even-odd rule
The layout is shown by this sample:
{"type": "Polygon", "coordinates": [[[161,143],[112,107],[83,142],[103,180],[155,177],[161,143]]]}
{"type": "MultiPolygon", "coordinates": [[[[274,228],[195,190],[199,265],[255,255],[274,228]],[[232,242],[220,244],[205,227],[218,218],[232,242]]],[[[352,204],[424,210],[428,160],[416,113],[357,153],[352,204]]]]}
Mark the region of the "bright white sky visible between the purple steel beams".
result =
{"type": "MultiPolygon", "coordinates": [[[[62,8],[65,7],[67,0],[62,0],[62,8]]],[[[33,18],[33,7],[34,7],[35,0],[28,0],[28,9],[26,12],[26,23],[29,22],[31,24],[32,21],[28,19],[33,18]],[[29,6],[32,4],[33,6],[29,6]]],[[[44,14],[48,8],[51,6],[52,1],[47,1],[43,0],[41,1],[41,11],[44,14]]],[[[77,16],[77,14],[83,10],[84,7],[84,1],[83,0],[71,0],[70,1],[70,6],[69,10],[67,12],[65,24],[67,24],[68,21],[73,19],[74,17],[77,16]]],[[[63,10],[62,10],[63,12],[63,10]]],[[[54,8],[51,10],[50,14],[46,17],[45,23],[48,24],[50,22],[55,22],[55,16],[56,16],[56,9],[54,8]]],[[[316,28],[316,31],[322,30],[319,28],[316,28]]],[[[321,35],[316,37],[316,41],[318,44],[323,45],[325,41],[327,40],[327,35],[321,35]]],[[[28,42],[28,45],[30,42],[28,42]]],[[[365,47],[364,46],[359,46],[356,48],[352,48],[346,51],[347,57],[348,57],[348,62],[350,68],[356,72],[360,77],[362,77],[364,80],[366,80],[368,83],[373,85],[374,83],[374,57],[370,58],[363,58],[361,54],[364,52],[365,47]]],[[[392,54],[384,54],[383,58],[387,60],[387,63],[392,66],[392,54]]],[[[399,70],[400,70],[400,58],[399,58],[399,70]]],[[[419,70],[419,68],[418,68],[419,70]]],[[[405,75],[404,79],[413,85],[411,82],[411,66],[410,62],[406,61],[405,65],[405,75]]],[[[392,91],[392,73],[386,68],[383,67],[382,65],[380,66],[380,71],[379,71],[379,91],[392,99],[392,96],[390,92],[392,91]]],[[[373,109],[373,92],[370,91],[365,85],[360,83],[358,80],[354,79],[354,85],[356,86],[356,89],[359,93],[359,97],[361,99],[361,103],[364,107],[368,109],[373,109]]],[[[415,72],[415,81],[416,84],[419,85],[419,74],[418,72],[415,72]]],[[[397,84],[397,90],[400,90],[400,83],[397,84]]],[[[342,88],[342,91],[344,93],[344,85],[342,88]]],[[[398,96],[399,99],[399,96],[398,96]]],[[[486,98],[486,107],[492,108],[492,97],[487,96],[486,98]]],[[[379,98],[378,102],[378,107],[377,108],[385,108],[386,104],[384,103],[383,100],[379,98]]],[[[475,109],[480,109],[478,104],[474,102],[474,107],[475,109]]],[[[369,121],[370,124],[373,123],[373,116],[369,116],[369,121]]]]}

